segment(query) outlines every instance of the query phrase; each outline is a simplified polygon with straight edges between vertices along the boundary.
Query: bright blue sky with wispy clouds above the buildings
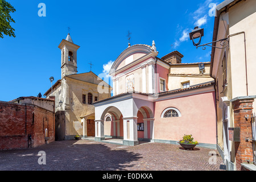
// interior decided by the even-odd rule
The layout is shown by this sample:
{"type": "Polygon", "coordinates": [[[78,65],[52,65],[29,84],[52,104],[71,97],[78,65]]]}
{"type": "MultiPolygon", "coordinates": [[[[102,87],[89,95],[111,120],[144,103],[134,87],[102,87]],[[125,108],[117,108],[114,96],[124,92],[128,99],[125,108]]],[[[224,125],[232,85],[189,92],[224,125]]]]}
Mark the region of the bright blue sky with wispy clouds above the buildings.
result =
{"type": "Polygon", "coordinates": [[[73,42],[80,46],[78,73],[89,72],[90,61],[96,75],[107,72],[108,63],[127,48],[128,31],[131,45],[151,45],[154,40],[158,57],[177,50],[184,55],[183,63],[210,61],[211,49],[196,49],[188,33],[199,25],[204,28],[201,43],[212,42],[214,16],[209,16],[209,4],[222,2],[7,1],[16,9],[11,13],[16,37],[0,39],[0,101],[43,95],[51,87],[49,77],[61,78],[58,46],[68,27],[73,42]],[[39,3],[46,5],[46,16],[38,16],[39,3]]]}

